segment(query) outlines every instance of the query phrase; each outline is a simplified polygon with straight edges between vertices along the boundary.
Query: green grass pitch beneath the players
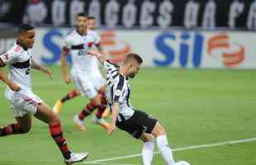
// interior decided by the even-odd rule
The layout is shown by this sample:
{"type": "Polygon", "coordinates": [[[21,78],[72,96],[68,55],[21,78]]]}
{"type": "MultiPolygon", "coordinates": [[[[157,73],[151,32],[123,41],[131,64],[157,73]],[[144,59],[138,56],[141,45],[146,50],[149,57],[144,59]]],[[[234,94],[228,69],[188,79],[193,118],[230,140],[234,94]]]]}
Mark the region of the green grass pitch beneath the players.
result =
{"type": "MultiPolygon", "coordinates": [[[[48,105],[73,88],[61,78],[60,68],[51,67],[54,79],[33,71],[33,92],[48,105]]],[[[256,137],[256,71],[142,68],[132,87],[131,103],[158,118],[168,132],[172,148],[216,144],[256,137]]],[[[0,125],[14,121],[4,98],[0,82],[0,125]]],[[[88,162],[132,155],[141,152],[140,141],[116,130],[108,136],[91,116],[85,120],[86,133],[74,129],[73,115],[88,102],[84,97],[68,101],[60,115],[69,147],[76,152],[88,151],[88,162]]],[[[33,119],[29,134],[0,138],[0,165],[64,164],[47,125],[33,119]]],[[[157,151],[157,148],[155,148],[157,151]]],[[[256,141],[225,144],[173,152],[176,160],[192,165],[255,165],[256,141]]],[[[83,163],[80,163],[83,164],[83,163]]],[[[97,164],[97,163],[94,163],[97,164]]],[[[140,157],[122,158],[98,164],[139,165],[140,157]]],[[[154,165],[164,165],[159,154],[154,165]]]]}

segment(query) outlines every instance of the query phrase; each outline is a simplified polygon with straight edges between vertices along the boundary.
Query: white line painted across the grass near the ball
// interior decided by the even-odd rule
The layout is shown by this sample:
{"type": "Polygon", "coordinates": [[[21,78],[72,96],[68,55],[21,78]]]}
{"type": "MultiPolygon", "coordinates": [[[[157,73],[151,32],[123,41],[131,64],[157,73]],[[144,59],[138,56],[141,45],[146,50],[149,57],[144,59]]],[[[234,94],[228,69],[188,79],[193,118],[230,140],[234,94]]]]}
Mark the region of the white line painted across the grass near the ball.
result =
{"type": "MultiPolygon", "coordinates": [[[[256,141],[256,137],[251,138],[251,139],[238,139],[238,140],[232,140],[232,141],[225,141],[225,142],[219,142],[219,143],[214,143],[214,144],[201,144],[201,145],[192,145],[192,146],[187,146],[183,148],[174,148],[173,152],[176,151],[183,151],[183,150],[188,150],[188,149],[196,149],[196,148],[211,148],[211,147],[216,147],[220,145],[226,145],[226,144],[241,144],[241,143],[247,143],[247,142],[252,142],[256,141]]],[[[159,152],[154,152],[154,154],[159,153],[159,152]]],[[[84,162],[83,164],[99,164],[99,163],[104,163],[107,161],[111,160],[119,160],[119,159],[125,159],[125,158],[136,158],[136,157],[141,157],[141,153],[138,154],[132,154],[132,155],[126,155],[126,156],[121,156],[121,157],[116,157],[116,158],[106,158],[106,159],[97,159],[97,160],[92,160],[90,162],[84,162]]]]}

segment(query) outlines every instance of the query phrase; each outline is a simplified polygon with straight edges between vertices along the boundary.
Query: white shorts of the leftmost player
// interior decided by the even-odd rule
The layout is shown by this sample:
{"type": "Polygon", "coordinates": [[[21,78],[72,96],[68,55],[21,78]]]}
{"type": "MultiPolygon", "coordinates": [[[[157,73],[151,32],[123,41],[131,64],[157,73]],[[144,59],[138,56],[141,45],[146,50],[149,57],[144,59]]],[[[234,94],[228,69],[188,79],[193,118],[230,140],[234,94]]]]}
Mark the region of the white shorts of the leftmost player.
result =
{"type": "Polygon", "coordinates": [[[42,102],[31,90],[21,89],[20,92],[14,92],[7,89],[5,97],[12,106],[13,116],[22,117],[26,114],[35,115],[37,106],[42,102]]]}

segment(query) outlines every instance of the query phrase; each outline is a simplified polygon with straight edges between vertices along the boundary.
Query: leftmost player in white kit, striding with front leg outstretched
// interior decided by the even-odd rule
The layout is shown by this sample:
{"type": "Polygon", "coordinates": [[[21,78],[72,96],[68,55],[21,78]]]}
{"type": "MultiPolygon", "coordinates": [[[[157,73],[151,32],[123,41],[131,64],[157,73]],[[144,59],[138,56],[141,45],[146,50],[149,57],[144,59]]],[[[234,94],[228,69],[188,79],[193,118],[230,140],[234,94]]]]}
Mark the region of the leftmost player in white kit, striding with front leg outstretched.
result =
{"type": "MultiPolygon", "coordinates": [[[[34,45],[36,30],[33,26],[22,24],[18,30],[18,39],[11,50],[0,55],[0,67],[9,66],[9,78],[0,68],[0,79],[7,84],[5,97],[12,106],[17,122],[0,127],[0,136],[26,134],[31,130],[31,115],[49,125],[49,130],[64,162],[72,164],[83,161],[88,153],[72,153],[64,138],[60,120],[57,115],[40,100],[31,89],[31,68],[40,70],[52,78],[50,69],[36,64],[32,58],[31,48],[34,45]]],[[[3,149],[3,148],[2,148],[3,149]]]]}

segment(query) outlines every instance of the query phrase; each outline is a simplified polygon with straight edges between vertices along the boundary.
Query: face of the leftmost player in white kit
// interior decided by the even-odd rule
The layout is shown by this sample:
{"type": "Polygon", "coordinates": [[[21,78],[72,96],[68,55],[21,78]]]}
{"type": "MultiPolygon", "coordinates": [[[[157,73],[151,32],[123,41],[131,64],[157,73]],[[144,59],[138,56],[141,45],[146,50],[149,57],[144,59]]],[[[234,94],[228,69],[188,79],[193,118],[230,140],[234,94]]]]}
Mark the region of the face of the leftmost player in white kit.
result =
{"type": "Polygon", "coordinates": [[[35,43],[35,36],[36,30],[32,29],[21,34],[19,40],[21,40],[22,44],[25,45],[26,48],[32,48],[35,43]]]}

